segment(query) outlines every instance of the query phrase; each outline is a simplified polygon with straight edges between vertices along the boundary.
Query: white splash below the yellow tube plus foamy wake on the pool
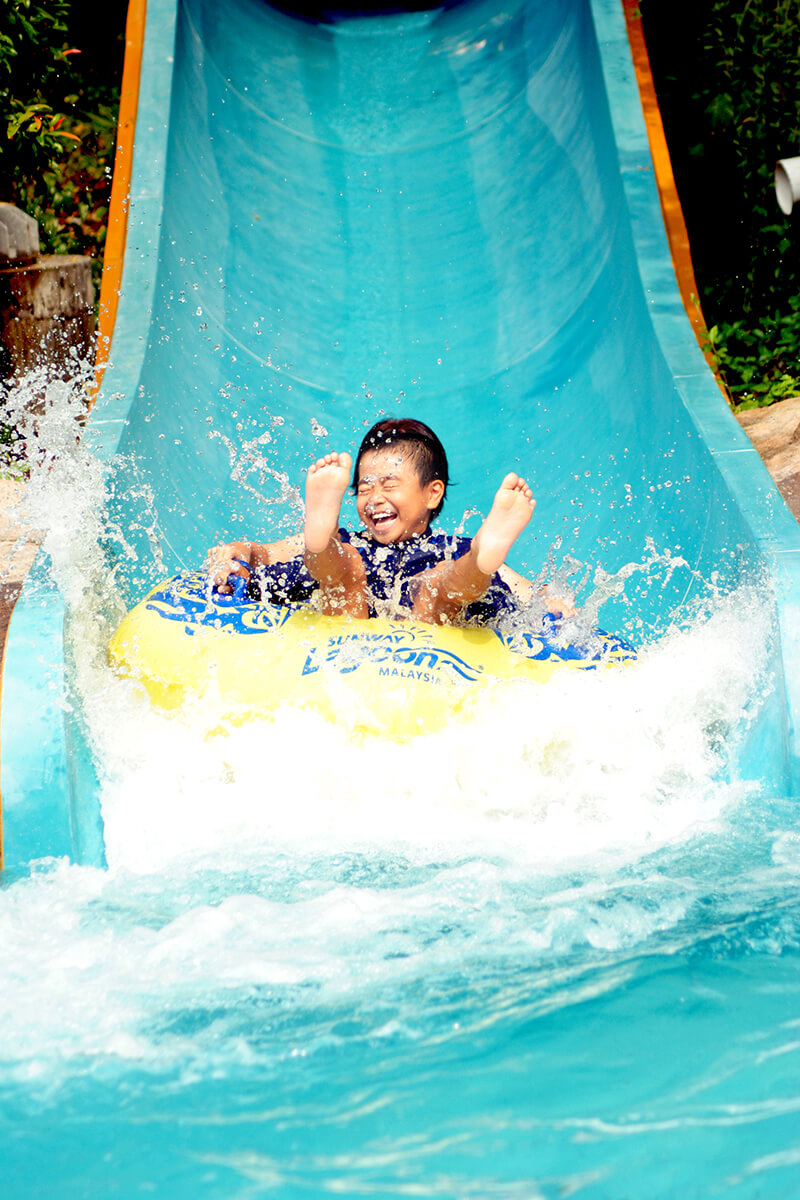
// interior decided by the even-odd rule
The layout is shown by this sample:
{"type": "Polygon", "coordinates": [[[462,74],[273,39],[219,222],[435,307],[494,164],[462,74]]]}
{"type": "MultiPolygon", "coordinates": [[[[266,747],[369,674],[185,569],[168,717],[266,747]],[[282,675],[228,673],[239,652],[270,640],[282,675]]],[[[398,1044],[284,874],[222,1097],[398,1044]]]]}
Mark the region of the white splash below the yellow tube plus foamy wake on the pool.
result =
{"type": "MultiPolygon", "coordinates": [[[[120,602],[101,547],[125,530],[106,522],[109,469],[77,440],[77,398],[48,395],[29,512],[73,610],[109,869],[42,864],[0,893],[11,1076],[48,1088],[101,1061],[279,1057],[291,1045],[241,1036],[237,996],[267,989],[302,1012],[307,989],[324,1008],[459,971],[465,947],[486,961],[624,950],[680,924],[687,895],[648,869],[723,829],[746,788],[726,779],[770,686],[756,588],[712,598],[634,664],[492,686],[469,720],[404,745],[354,743],[290,704],[206,737],[191,706],[160,712],[106,664],[120,602]],[[366,878],[342,878],[343,863],[366,878]],[[609,882],[620,871],[625,887],[609,882]],[[225,1015],[170,1031],[172,1013],[205,1007],[230,1030],[225,1015]]],[[[656,559],[637,570],[675,565],[656,559]]],[[[401,1014],[385,1036],[415,1036],[417,1020],[401,1014]]]]}

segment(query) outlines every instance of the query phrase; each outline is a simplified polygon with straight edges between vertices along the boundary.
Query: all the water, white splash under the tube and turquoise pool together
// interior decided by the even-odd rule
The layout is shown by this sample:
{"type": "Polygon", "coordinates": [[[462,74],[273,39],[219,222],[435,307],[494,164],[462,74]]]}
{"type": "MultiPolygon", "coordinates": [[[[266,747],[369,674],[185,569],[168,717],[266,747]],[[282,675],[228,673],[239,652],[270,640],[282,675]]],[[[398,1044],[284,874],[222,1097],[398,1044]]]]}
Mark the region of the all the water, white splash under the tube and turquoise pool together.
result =
{"type": "Polygon", "coordinates": [[[104,666],[70,446],[29,502],[109,866],[0,890],[4,1196],[800,1194],[800,821],[727,770],[758,589],[402,748],[207,738],[104,666]]]}

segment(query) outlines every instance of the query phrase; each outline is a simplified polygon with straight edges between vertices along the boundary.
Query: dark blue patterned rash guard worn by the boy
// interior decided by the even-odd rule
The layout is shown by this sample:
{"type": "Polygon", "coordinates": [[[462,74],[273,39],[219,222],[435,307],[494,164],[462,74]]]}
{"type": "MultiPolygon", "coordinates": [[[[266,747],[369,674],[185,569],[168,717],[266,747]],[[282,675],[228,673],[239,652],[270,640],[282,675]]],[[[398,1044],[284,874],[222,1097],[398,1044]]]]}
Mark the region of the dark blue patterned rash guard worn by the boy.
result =
{"type": "MultiPolygon", "coordinates": [[[[367,571],[367,605],[371,617],[385,616],[389,605],[411,608],[411,580],[447,558],[461,558],[471,545],[470,538],[450,538],[444,533],[417,534],[407,541],[381,546],[360,533],[339,529],[339,538],[359,551],[367,571]],[[381,604],[384,601],[385,604],[381,604]]],[[[303,604],[318,588],[302,560],[302,554],[288,563],[259,566],[249,580],[249,595],[272,604],[303,604]]],[[[511,588],[498,574],[480,600],[464,608],[465,620],[488,624],[515,607],[511,588]]]]}

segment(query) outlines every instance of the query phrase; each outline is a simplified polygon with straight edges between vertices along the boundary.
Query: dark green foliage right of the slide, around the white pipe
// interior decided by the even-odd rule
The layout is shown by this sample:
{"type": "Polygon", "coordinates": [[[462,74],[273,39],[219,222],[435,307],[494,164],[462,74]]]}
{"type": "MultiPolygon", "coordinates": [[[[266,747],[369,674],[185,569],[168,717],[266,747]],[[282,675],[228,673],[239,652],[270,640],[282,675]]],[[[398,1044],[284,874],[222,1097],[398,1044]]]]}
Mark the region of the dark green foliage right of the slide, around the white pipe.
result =
{"type": "Polygon", "coordinates": [[[800,395],[798,0],[643,0],[645,36],[717,368],[736,407],[800,395]]]}

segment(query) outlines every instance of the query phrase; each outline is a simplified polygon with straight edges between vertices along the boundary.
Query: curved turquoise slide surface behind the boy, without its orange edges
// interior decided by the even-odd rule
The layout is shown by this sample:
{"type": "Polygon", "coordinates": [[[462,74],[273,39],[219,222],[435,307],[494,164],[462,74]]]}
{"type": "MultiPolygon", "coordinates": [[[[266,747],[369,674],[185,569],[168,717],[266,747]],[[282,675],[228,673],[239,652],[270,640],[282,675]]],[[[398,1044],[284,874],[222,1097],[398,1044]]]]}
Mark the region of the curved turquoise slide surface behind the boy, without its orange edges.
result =
{"type": "MultiPolygon", "coordinates": [[[[151,0],[110,360],[88,437],[152,488],[169,570],[294,532],[305,466],[384,412],[443,437],[445,528],[507,469],[530,479],[519,570],[558,541],[613,571],[646,539],[730,586],[765,568],[783,661],[742,769],[800,792],[800,535],[682,312],[618,0],[332,24],[151,0]]],[[[161,570],[144,533],[136,548],[131,602],[161,570]]],[[[694,578],[634,593],[638,636],[694,578]]],[[[102,862],[91,756],[59,704],[62,618],[40,565],[4,679],[11,866],[102,862]]]]}

